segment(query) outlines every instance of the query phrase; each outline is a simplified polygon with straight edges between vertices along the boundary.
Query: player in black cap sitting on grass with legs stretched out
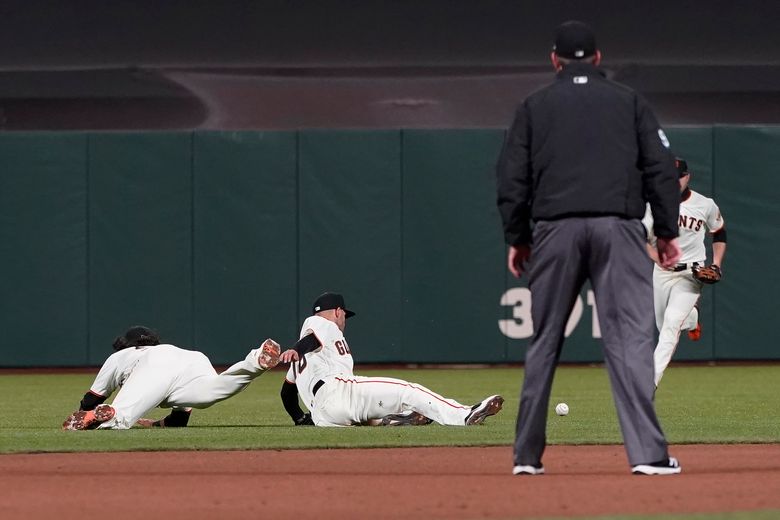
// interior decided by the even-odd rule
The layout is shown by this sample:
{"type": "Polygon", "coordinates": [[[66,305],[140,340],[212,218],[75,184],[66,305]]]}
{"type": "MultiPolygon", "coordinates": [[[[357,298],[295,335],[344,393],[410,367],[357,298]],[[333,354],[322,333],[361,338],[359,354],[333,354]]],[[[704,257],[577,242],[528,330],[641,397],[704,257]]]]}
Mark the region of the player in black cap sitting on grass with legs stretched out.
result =
{"type": "Polygon", "coordinates": [[[356,376],[344,338],[346,320],[355,313],[347,310],[340,294],[324,293],[312,314],[303,322],[298,343],[279,358],[290,363],[281,397],[296,424],[472,426],[501,410],[504,398],[499,395],[464,406],[416,383],[356,376]],[[311,415],[298,405],[298,393],[311,415]]]}

